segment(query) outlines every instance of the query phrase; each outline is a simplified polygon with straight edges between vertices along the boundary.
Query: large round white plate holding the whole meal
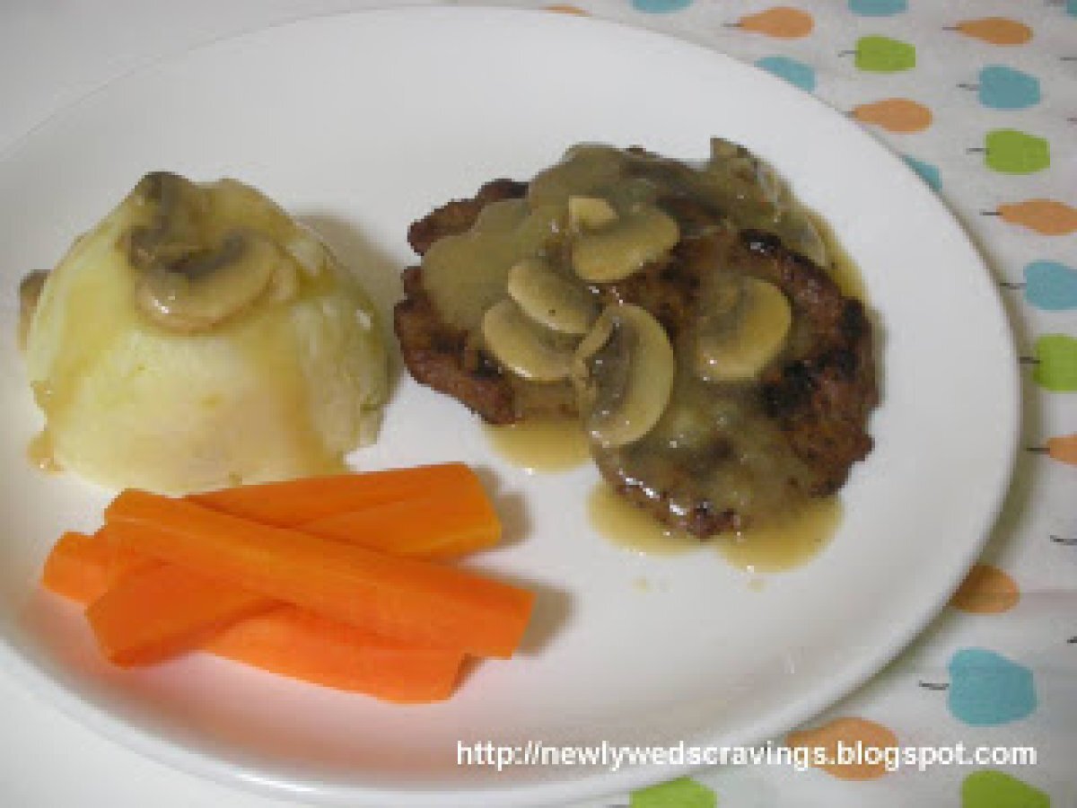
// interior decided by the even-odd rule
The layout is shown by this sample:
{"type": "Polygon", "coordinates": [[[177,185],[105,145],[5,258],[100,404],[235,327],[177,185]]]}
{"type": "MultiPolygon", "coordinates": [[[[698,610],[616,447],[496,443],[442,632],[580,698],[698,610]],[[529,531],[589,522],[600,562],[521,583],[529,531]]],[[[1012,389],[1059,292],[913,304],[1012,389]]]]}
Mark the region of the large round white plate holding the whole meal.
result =
{"type": "Polygon", "coordinates": [[[107,87],[0,166],[3,334],[0,656],[37,692],[157,758],[309,800],[557,802],[683,767],[458,766],[458,741],[758,742],[872,675],[946,602],[999,505],[1015,450],[1006,322],[967,238],[856,126],[761,72],[640,30],[548,13],[405,10],[220,42],[107,87]],[[391,707],[212,658],[120,672],[76,610],[37,591],[65,528],[108,492],[30,470],[38,416],[12,335],[20,275],[47,267],[144,171],[230,175],[318,226],[387,307],[406,225],[583,140],[685,158],[711,136],[770,159],[859,264],[880,323],[877,448],[827,551],[761,589],[711,553],[652,558],[593,534],[589,469],[529,476],[447,399],[404,381],[362,468],[489,469],[509,546],[478,563],[540,593],[528,647],[448,703],[391,707]],[[524,529],[526,528],[526,529],[524,529]],[[645,579],[644,589],[639,581],[645,579]]]}

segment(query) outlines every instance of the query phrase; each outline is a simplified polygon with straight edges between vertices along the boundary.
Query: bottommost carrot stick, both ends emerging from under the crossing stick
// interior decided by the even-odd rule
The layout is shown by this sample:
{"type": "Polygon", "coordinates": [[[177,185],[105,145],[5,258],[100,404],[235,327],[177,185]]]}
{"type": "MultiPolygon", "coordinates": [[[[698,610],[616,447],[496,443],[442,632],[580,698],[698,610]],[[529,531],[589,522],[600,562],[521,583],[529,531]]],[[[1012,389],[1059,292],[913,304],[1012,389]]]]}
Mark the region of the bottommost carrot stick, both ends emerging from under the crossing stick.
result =
{"type": "MultiPolygon", "coordinates": [[[[48,554],[42,583],[88,604],[104,591],[111,555],[99,535],[65,533],[48,554]]],[[[270,673],[401,702],[450,696],[463,660],[456,651],[393,642],[283,603],[239,619],[197,647],[270,673]]]]}

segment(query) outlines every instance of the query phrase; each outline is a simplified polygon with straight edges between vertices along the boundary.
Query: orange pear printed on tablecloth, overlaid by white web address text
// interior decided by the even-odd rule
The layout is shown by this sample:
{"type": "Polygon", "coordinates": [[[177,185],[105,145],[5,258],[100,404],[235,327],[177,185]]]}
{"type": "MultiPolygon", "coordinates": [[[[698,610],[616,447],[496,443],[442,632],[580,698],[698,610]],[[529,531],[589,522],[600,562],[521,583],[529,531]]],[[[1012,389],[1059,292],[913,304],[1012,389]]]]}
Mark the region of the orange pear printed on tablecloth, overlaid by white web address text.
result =
{"type": "Polygon", "coordinates": [[[839,780],[875,780],[897,768],[900,749],[890,727],[867,719],[835,719],[813,729],[789,733],[785,743],[839,780]]]}

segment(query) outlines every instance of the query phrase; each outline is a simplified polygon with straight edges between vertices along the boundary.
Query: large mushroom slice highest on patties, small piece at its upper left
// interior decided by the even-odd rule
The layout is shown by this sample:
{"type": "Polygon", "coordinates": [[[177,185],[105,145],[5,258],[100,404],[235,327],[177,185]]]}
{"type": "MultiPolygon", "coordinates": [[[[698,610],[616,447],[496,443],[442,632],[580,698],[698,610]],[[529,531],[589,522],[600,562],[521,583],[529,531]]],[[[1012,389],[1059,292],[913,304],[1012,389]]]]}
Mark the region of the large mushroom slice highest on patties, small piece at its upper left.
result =
{"type": "Polygon", "coordinates": [[[578,235],[572,243],[572,266],[588,283],[612,283],[665,255],[680,237],[676,220],[643,207],[578,235]]]}

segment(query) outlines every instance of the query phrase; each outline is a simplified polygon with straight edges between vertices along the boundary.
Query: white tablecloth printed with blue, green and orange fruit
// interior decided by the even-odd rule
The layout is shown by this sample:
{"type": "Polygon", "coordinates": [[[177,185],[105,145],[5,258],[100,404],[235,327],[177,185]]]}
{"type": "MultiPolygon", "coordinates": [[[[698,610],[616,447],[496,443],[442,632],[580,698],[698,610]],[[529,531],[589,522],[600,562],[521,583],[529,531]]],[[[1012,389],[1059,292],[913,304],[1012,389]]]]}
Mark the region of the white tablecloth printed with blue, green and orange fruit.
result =
{"type": "Polygon", "coordinates": [[[1023,365],[1024,450],[980,562],[893,665],[774,740],[993,757],[924,770],[885,756],[807,771],[745,763],[589,805],[1077,805],[1077,0],[545,8],[714,47],[859,121],[979,246],[1023,365]],[[1016,748],[1034,750],[1035,764],[1017,763],[1016,748]]]}

